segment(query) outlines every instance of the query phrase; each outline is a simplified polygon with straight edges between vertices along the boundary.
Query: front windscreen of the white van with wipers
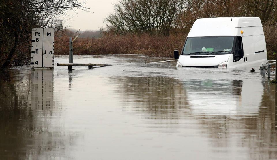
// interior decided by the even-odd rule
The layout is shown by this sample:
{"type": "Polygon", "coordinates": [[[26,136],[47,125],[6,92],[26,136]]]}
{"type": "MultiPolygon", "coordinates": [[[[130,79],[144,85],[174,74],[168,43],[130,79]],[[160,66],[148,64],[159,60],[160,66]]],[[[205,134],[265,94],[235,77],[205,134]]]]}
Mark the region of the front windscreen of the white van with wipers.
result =
{"type": "Polygon", "coordinates": [[[183,55],[230,54],[233,42],[232,36],[189,37],[186,40],[183,55]]]}

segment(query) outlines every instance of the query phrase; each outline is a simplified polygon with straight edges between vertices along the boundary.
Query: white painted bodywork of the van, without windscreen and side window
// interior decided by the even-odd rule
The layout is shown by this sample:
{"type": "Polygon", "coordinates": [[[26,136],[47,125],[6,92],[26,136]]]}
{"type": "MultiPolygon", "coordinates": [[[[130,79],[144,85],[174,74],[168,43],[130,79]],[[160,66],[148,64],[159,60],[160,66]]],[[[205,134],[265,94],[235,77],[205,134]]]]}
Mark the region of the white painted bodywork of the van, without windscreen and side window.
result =
{"type": "Polygon", "coordinates": [[[206,36],[242,37],[244,57],[237,62],[233,62],[233,54],[211,54],[208,56],[215,57],[191,58],[190,56],[206,55],[182,55],[181,53],[178,62],[183,66],[216,66],[222,62],[228,61],[226,68],[242,68],[248,66],[259,67],[267,61],[265,37],[259,17],[197,19],[188,33],[187,38],[206,36]],[[243,34],[241,31],[243,31],[243,34]]]}

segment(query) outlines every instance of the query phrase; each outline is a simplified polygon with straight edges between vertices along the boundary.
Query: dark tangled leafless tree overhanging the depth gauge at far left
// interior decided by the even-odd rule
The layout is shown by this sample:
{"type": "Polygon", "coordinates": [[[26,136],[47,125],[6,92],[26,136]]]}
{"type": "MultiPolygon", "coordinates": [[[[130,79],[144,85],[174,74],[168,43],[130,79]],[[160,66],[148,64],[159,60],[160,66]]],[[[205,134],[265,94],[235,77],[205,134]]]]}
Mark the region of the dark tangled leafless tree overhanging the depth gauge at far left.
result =
{"type": "MultiPolygon", "coordinates": [[[[30,32],[35,27],[63,28],[61,16],[67,10],[86,10],[78,0],[1,0],[0,3],[0,70],[10,65],[20,44],[29,44],[30,32]],[[54,25],[53,25],[54,24],[54,25]],[[26,43],[27,42],[27,43],[26,43]]],[[[29,47],[30,49],[30,47],[29,47]]],[[[26,53],[26,56],[29,53],[26,53]]],[[[18,55],[17,55],[18,56],[18,55]]]]}

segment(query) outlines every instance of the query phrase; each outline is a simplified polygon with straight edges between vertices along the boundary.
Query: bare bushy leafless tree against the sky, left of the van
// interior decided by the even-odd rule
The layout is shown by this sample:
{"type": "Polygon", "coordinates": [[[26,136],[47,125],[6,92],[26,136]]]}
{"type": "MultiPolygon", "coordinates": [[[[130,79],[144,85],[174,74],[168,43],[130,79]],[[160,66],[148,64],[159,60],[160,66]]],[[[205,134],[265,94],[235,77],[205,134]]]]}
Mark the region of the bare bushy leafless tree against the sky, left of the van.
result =
{"type": "Polygon", "coordinates": [[[121,0],[115,13],[106,17],[108,31],[114,33],[152,33],[169,35],[178,27],[177,17],[184,0],[121,0]]]}

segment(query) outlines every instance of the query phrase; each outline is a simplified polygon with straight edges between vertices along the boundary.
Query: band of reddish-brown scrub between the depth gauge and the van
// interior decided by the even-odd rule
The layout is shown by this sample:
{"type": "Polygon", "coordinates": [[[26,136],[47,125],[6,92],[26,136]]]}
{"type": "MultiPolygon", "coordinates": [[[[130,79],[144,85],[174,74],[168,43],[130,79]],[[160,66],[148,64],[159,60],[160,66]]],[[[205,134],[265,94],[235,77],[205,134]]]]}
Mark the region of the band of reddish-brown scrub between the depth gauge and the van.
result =
{"type": "MultiPolygon", "coordinates": [[[[173,57],[174,50],[181,50],[186,36],[157,35],[114,35],[104,34],[101,38],[77,38],[73,42],[75,55],[100,54],[145,54],[153,57],[173,57]]],[[[68,55],[69,37],[55,39],[55,54],[68,55]]]]}

